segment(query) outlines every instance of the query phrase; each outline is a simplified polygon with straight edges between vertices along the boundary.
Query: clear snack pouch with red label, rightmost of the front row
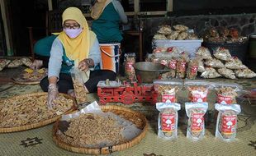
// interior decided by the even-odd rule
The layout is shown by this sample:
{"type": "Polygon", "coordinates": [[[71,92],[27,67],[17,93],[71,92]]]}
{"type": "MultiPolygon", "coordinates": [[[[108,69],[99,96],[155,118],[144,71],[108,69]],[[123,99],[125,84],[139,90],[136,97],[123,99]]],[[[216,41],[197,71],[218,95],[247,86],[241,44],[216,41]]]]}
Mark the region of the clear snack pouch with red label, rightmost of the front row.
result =
{"type": "Polygon", "coordinates": [[[216,103],[215,108],[219,111],[216,122],[216,137],[225,141],[235,140],[237,115],[241,112],[240,105],[216,103]]]}

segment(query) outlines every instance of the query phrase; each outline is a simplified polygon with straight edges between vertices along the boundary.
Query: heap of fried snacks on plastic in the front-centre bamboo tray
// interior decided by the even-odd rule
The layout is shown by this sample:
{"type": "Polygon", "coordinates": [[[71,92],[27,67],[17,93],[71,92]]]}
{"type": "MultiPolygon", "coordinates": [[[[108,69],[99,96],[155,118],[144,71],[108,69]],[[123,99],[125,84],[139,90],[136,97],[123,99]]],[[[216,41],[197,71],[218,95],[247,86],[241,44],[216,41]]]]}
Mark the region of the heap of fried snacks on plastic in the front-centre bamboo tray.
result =
{"type": "Polygon", "coordinates": [[[75,147],[102,148],[124,142],[121,131],[122,127],[114,117],[82,113],[70,120],[67,131],[57,131],[57,135],[75,147]]]}

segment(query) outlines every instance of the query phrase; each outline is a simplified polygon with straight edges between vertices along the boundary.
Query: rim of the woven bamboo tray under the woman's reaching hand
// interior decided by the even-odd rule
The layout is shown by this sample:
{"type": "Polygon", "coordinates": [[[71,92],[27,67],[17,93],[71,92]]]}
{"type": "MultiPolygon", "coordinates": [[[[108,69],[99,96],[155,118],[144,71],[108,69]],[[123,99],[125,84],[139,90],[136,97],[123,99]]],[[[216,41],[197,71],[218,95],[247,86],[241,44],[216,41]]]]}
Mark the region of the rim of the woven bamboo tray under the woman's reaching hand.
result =
{"type": "MultiPolygon", "coordinates": [[[[59,93],[59,94],[61,94],[61,93],[59,93]]],[[[46,92],[41,92],[41,93],[23,94],[23,95],[17,95],[17,96],[14,96],[12,98],[8,98],[8,99],[15,99],[15,98],[24,98],[25,99],[26,97],[40,96],[40,95],[47,96],[47,93],[46,92]]],[[[67,99],[72,99],[73,100],[73,107],[70,108],[67,112],[64,112],[64,113],[73,112],[73,110],[76,109],[75,99],[73,99],[73,97],[69,96],[68,94],[61,94],[61,95],[63,95],[67,99]]],[[[3,102],[3,100],[4,99],[0,99],[0,104],[3,102]]],[[[56,120],[59,119],[59,117],[61,117],[61,115],[56,116],[54,118],[47,119],[43,122],[32,123],[30,125],[25,125],[25,126],[4,127],[4,128],[0,127],[0,133],[7,133],[7,132],[14,132],[14,131],[25,131],[25,130],[30,130],[30,129],[37,128],[37,127],[40,127],[40,126],[45,126],[45,125],[48,125],[52,122],[55,122],[56,120]]]]}

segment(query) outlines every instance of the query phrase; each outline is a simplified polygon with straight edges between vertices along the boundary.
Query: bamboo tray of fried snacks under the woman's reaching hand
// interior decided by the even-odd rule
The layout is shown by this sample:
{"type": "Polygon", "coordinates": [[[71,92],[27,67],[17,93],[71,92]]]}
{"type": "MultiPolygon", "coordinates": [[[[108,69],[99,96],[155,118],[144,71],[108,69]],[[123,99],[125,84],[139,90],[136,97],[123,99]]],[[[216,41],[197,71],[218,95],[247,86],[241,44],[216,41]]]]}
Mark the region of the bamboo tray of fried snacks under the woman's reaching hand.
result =
{"type": "Polygon", "coordinates": [[[54,103],[54,108],[47,108],[47,93],[0,99],[0,133],[45,126],[76,108],[75,100],[68,94],[59,94],[54,103]]]}

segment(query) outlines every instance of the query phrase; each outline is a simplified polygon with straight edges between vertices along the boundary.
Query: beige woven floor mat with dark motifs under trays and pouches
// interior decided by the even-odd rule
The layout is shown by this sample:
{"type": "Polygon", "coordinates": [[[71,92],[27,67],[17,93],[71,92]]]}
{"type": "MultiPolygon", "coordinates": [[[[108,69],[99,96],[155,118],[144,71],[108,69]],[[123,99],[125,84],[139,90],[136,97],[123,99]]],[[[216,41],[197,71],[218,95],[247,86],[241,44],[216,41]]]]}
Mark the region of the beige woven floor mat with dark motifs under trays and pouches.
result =
{"type": "MultiPolygon", "coordinates": [[[[222,80],[225,81],[225,80],[222,80]]],[[[231,80],[226,80],[231,81],[231,80]]],[[[256,88],[255,81],[239,80],[245,89],[256,88]]],[[[39,85],[0,86],[0,98],[7,98],[16,94],[26,94],[41,91],[39,85]],[[9,87],[9,88],[8,88],[9,87]],[[3,89],[3,91],[1,91],[3,89]]],[[[186,93],[178,97],[183,99],[186,93]]],[[[97,100],[97,94],[88,94],[89,101],[97,100]]],[[[183,103],[183,102],[181,102],[183,103]]],[[[123,105],[122,103],[111,103],[123,105]]],[[[226,143],[215,138],[215,125],[213,124],[213,103],[206,114],[206,135],[203,140],[192,142],[186,138],[187,118],[182,109],[179,111],[178,140],[163,140],[157,135],[158,111],[149,103],[134,103],[125,105],[128,108],[140,111],[149,120],[149,131],[139,145],[130,149],[115,152],[111,155],[141,155],[141,156],[167,156],[167,155],[256,155],[256,107],[247,101],[239,101],[242,112],[238,118],[238,133],[234,142],[226,143]]],[[[82,155],[60,149],[52,140],[52,124],[37,129],[21,132],[0,134],[0,155],[82,155]]]]}

